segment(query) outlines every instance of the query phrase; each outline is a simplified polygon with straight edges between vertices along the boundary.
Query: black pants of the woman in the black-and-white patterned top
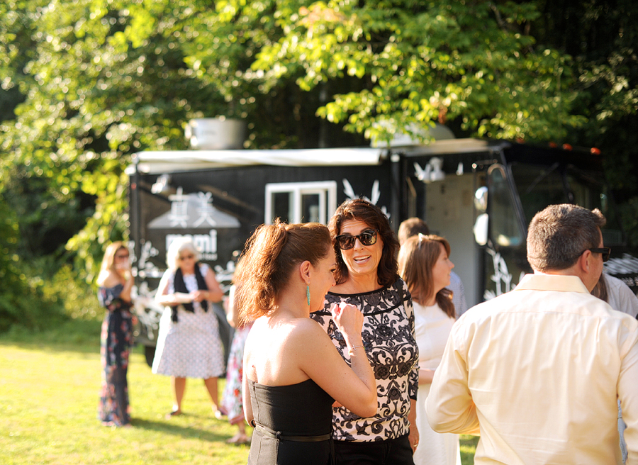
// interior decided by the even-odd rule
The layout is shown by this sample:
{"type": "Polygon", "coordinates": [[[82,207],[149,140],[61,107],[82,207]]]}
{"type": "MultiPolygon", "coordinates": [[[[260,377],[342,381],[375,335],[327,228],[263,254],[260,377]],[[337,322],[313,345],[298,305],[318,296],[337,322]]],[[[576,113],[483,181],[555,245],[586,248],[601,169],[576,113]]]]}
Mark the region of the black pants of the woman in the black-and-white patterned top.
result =
{"type": "Polygon", "coordinates": [[[385,441],[335,441],[337,465],[414,465],[408,435],[385,441]]]}

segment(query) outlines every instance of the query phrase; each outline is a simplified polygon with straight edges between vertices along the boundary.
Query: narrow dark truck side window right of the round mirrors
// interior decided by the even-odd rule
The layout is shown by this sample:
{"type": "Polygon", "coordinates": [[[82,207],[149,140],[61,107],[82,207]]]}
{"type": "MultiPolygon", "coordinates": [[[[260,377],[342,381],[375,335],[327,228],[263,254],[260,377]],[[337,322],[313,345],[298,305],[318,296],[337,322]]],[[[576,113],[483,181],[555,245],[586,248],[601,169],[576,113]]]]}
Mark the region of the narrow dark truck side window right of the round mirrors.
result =
{"type": "Polygon", "coordinates": [[[516,247],[525,240],[520,230],[514,199],[503,167],[492,165],[488,171],[490,237],[500,247],[516,247]]]}

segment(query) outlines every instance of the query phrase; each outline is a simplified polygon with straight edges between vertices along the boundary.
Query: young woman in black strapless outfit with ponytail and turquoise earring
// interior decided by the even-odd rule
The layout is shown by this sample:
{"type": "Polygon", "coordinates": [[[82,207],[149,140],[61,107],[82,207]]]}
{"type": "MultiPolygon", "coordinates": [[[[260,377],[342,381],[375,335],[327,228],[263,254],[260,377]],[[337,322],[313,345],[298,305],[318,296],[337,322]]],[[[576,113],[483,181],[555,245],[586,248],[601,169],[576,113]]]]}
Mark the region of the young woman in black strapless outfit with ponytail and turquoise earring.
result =
{"type": "Polygon", "coordinates": [[[335,285],[335,252],[324,225],[260,226],[237,277],[240,318],[253,321],[244,352],[244,405],[255,427],[248,463],[334,463],[332,404],[376,412],[376,383],[362,344],[363,315],[333,306],[349,364],[310,312],[335,285]]]}

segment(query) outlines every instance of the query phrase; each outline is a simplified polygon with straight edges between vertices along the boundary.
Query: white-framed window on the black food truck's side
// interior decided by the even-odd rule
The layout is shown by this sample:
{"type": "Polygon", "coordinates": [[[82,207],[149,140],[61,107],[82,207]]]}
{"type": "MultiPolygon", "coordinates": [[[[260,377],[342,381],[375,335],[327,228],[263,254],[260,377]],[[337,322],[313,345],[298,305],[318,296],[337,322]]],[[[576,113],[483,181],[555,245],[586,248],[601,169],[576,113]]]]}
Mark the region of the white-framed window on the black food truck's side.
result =
{"type": "Polygon", "coordinates": [[[275,218],[287,223],[328,223],[337,209],[336,181],[286,182],[266,185],[264,221],[275,218]]]}

